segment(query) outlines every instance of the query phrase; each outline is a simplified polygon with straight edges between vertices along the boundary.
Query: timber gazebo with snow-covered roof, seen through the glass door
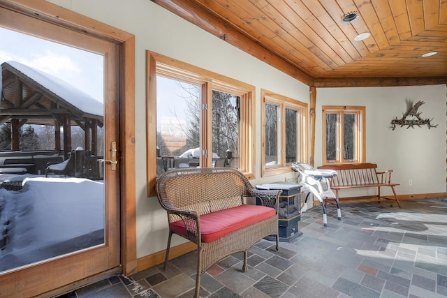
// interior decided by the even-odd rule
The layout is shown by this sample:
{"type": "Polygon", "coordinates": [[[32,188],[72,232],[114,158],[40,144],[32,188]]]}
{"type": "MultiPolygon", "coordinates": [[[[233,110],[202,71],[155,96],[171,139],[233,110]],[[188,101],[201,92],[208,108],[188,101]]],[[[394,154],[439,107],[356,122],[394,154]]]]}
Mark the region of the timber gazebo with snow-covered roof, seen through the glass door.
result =
{"type": "Polygon", "coordinates": [[[11,124],[11,149],[19,150],[24,124],[54,126],[55,150],[71,151],[71,126],[85,131],[85,150],[98,155],[98,127],[103,127],[103,103],[57,77],[15,61],[1,64],[0,124],[11,124]]]}

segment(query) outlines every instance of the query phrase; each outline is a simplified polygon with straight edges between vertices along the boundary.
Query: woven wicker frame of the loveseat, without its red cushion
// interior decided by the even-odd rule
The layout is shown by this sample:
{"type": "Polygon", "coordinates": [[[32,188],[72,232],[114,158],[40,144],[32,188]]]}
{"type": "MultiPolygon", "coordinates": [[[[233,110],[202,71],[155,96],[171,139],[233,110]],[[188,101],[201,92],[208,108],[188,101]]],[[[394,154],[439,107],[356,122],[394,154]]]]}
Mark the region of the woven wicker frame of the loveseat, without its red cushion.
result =
{"type": "MultiPolygon", "coordinates": [[[[244,204],[244,198],[261,199],[263,206],[278,210],[281,191],[260,191],[252,186],[240,171],[228,167],[184,168],[170,170],[159,177],[156,184],[161,207],[168,213],[168,223],[182,220],[186,236],[180,236],[197,244],[198,264],[196,292],[199,297],[200,276],[219,260],[237,252],[244,252],[243,271],[247,270],[247,251],[257,241],[270,235],[276,236],[279,249],[278,217],[254,223],[212,242],[201,241],[200,215],[244,204]]],[[[169,230],[166,262],[169,258],[173,230],[169,230]]]]}

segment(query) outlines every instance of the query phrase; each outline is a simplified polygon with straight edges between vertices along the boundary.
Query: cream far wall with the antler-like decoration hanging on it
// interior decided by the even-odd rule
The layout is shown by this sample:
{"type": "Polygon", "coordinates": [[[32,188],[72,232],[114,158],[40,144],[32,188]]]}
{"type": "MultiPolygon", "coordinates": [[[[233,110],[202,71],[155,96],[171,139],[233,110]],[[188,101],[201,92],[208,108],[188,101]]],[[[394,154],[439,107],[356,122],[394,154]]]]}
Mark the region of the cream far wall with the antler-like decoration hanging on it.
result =
{"type": "Polygon", "coordinates": [[[321,106],[365,105],[366,161],[377,163],[378,170],[393,169],[393,181],[401,184],[396,188],[397,194],[445,192],[446,94],[445,84],[317,89],[315,165],[321,165],[323,156],[321,106]],[[437,128],[416,126],[407,129],[407,126],[397,126],[393,131],[390,122],[395,118],[400,119],[406,112],[406,100],[413,103],[423,100],[425,103],[418,109],[422,113],[420,117],[433,119],[431,123],[437,124],[437,128]],[[413,182],[411,186],[409,180],[413,182]]]}

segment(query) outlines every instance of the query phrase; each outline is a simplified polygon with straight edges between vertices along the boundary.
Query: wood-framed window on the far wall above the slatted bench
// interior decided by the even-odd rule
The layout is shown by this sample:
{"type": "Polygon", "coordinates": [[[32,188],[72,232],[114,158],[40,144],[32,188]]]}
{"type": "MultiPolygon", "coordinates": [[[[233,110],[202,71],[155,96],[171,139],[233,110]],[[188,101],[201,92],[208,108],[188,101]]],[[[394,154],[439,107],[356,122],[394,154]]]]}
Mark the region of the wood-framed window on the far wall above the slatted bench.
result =
{"type": "Polygon", "coordinates": [[[323,164],[365,161],[365,107],[323,106],[323,164]]]}

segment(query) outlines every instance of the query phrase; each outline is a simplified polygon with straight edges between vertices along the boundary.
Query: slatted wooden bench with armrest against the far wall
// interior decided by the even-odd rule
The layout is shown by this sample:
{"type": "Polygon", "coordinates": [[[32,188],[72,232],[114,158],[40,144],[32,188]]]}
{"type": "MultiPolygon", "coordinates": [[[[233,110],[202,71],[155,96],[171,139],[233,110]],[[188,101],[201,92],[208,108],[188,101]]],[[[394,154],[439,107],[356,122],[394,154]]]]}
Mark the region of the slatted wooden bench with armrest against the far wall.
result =
{"type": "Polygon", "coordinates": [[[339,190],[348,188],[362,188],[362,187],[376,187],[377,200],[381,198],[387,200],[395,200],[400,207],[399,199],[397,198],[395,186],[399,184],[391,183],[391,172],[393,170],[386,170],[385,172],[377,172],[377,165],[375,163],[349,163],[349,164],[334,164],[323,165],[318,169],[336,170],[337,176],[330,181],[330,188],[335,190],[337,200],[339,200],[339,190]],[[381,187],[390,187],[393,191],[394,198],[383,197],[380,192],[381,187]]]}

